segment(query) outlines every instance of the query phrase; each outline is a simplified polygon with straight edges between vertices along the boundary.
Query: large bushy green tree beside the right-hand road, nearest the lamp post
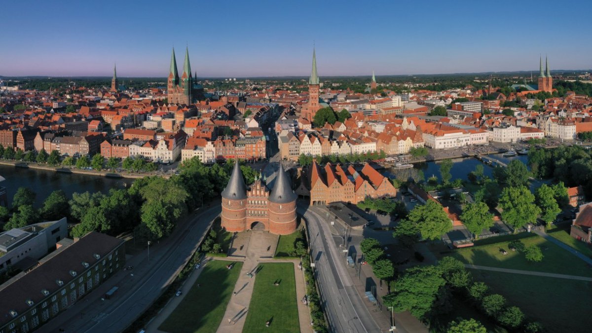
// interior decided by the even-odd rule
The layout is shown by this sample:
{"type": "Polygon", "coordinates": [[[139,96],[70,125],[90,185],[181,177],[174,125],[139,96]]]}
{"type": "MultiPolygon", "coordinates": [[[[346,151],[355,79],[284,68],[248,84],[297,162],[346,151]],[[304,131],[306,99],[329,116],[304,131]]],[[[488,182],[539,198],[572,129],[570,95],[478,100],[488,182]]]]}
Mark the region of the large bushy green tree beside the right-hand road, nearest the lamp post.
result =
{"type": "Polygon", "coordinates": [[[396,312],[408,310],[416,318],[424,319],[445,284],[435,266],[408,268],[394,281],[393,292],[382,297],[382,301],[396,312]]]}

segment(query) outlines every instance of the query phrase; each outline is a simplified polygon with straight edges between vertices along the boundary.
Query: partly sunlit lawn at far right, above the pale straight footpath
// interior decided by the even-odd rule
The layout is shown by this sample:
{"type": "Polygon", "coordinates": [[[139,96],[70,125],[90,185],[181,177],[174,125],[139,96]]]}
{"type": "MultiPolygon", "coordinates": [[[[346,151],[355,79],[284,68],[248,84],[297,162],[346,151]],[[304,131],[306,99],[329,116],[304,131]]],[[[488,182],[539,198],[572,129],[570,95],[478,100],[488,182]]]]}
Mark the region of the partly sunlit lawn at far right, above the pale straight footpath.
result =
{"type": "Polygon", "coordinates": [[[522,238],[520,241],[525,244],[525,246],[532,244],[540,246],[544,255],[543,261],[527,261],[522,252],[511,251],[508,248],[509,242],[507,241],[458,249],[452,252],[452,256],[466,264],[488,267],[540,271],[575,276],[590,276],[590,274],[592,274],[592,269],[587,267],[584,261],[575,257],[575,255],[565,249],[560,248],[558,245],[546,241],[540,236],[533,235],[532,237],[522,238]],[[505,249],[507,255],[501,254],[500,249],[505,249]]]}

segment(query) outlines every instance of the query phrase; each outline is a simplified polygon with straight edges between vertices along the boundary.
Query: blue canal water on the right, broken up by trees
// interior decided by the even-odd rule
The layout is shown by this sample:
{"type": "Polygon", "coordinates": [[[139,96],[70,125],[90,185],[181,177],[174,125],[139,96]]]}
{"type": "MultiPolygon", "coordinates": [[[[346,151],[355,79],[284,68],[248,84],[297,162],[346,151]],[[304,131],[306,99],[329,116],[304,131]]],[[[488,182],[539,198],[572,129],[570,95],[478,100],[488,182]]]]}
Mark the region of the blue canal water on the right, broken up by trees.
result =
{"type": "MultiPolygon", "coordinates": [[[[519,161],[522,161],[524,164],[527,163],[528,161],[528,155],[516,155],[516,156],[510,156],[510,157],[504,157],[503,154],[498,153],[498,154],[491,154],[488,155],[491,158],[497,159],[500,162],[503,162],[505,164],[510,163],[511,161],[513,161],[514,159],[518,159],[519,161]]],[[[451,180],[455,180],[455,179],[462,179],[462,180],[466,180],[466,175],[475,170],[475,167],[477,167],[477,165],[483,165],[484,167],[484,174],[488,177],[492,177],[493,174],[493,167],[491,167],[490,165],[487,164],[483,164],[481,161],[478,161],[478,159],[474,158],[474,157],[466,157],[466,158],[454,158],[452,159],[452,169],[450,171],[452,178],[451,180]]],[[[437,162],[423,162],[423,163],[416,163],[413,165],[413,169],[414,171],[406,171],[406,169],[388,169],[388,171],[385,171],[385,175],[388,175],[390,177],[394,176],[395,178],[407,178],[408,175],[410,174],[410,172],[417,172],[417,171],[422,171],[424,177],[426,178],[430,178],[432,176],[438,178],[438,180],[442,180],[442,177],[440,176],[440,161],[437,162]]]]}

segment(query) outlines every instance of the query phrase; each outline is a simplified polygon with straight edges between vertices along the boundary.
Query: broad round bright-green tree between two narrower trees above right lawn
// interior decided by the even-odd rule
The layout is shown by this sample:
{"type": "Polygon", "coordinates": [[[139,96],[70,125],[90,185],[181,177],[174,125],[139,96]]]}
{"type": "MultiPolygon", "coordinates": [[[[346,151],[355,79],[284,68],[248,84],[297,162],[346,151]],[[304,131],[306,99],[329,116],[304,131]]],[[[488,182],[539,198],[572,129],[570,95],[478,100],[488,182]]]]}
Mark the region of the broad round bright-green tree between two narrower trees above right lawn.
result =
{"type": "Polygon", "coordinates": [[[504,188],[500,197],[500,207],[503,209],[501,219],[514,228],[514,233],[527,223],[535,223],[536,217],[540,214],[540,208],[535,204],[535,196],[525,186],[504,188]]]}

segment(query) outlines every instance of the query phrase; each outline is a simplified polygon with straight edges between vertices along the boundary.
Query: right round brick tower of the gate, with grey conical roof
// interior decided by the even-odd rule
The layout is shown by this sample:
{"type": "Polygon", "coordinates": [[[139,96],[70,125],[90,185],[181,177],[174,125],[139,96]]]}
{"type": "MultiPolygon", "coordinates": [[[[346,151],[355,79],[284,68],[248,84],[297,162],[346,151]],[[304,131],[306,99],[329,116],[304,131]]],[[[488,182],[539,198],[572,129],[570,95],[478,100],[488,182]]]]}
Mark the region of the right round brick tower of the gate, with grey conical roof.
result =
{"type": "Polygon", "coordinates": [[[269,232],[288,235],[296,231],[296,199],[291,181],[279,163],[274,188],[269,195],[269,232]]]}

